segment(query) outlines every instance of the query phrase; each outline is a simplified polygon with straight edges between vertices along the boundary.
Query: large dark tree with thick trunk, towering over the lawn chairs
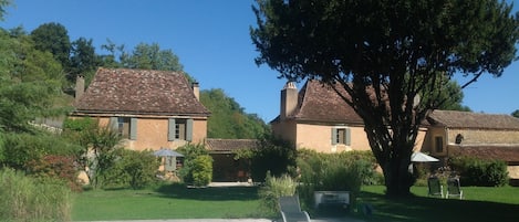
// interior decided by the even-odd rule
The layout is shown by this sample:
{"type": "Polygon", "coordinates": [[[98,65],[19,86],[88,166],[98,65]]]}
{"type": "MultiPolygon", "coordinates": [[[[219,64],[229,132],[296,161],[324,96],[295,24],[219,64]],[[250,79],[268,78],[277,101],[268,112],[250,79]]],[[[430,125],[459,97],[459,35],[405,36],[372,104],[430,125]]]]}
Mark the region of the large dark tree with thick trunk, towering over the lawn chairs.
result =
{"type": "Polygon", "coordinates": [[[500,76],[518,17],[496,0],[257,0],[251,38],[290,81],[329,84],[364,120],[388,195],[406,195],[419,123],[456,73],[500,76]],[[421,99],[418,99],[421,98],[421,99]]]}

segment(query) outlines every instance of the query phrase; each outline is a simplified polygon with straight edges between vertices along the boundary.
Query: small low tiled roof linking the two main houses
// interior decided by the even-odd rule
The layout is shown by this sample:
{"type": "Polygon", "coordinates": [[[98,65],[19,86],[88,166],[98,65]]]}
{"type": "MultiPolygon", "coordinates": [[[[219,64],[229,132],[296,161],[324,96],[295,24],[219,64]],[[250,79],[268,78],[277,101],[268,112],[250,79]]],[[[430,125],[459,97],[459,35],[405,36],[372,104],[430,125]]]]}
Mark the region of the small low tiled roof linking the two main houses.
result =
{"type": "Polygon", "coordinates": [[[207,139],[206,147],[210,152],[232,152],[238,149],[258,147],[257,139],[207,139]]]}

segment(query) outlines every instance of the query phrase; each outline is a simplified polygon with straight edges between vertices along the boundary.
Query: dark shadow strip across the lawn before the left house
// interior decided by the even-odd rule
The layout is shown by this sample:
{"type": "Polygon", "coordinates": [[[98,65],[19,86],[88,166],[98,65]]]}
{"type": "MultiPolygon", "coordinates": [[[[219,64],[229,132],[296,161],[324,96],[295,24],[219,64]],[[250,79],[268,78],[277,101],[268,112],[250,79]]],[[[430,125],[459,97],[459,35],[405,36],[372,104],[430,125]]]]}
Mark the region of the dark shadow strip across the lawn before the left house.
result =
{"type": "Polygon", "coordinates": [[[187,188],[185,184],[165,184],[156,189],[164,198],[189,200],[258,200],[258,187],[187,188]]]}

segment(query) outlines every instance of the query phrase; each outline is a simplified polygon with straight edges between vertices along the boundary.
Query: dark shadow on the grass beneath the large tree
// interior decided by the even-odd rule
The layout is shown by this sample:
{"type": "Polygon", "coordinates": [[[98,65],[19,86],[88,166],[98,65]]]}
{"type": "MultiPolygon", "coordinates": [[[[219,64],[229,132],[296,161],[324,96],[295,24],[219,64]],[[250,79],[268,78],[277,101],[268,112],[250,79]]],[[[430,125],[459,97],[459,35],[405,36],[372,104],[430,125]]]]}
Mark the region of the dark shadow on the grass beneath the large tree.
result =
{"type": "Polygon", "coordinates": [[[362,192],[360,203],[373,205],[373,215],[365,215],[366,221],[383,222],[488,222],[518,221],[518,204],[409,197],[386,199],[383,194],[362,192]]]}

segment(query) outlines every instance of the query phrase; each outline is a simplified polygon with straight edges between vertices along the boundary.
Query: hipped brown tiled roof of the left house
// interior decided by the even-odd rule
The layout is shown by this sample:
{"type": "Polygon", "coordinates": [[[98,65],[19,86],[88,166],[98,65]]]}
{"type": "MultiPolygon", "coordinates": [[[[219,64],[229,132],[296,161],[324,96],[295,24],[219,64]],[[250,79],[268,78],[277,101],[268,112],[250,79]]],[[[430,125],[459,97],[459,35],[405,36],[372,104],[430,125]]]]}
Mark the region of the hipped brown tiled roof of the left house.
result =
{"type": "Polygon", "coordinates": [[[208,116],[181,73],[98,68],[76,103],[79,113],[208,116]]]}

